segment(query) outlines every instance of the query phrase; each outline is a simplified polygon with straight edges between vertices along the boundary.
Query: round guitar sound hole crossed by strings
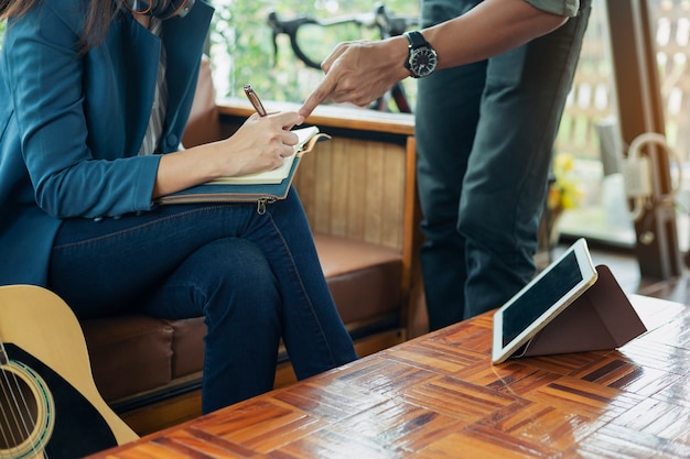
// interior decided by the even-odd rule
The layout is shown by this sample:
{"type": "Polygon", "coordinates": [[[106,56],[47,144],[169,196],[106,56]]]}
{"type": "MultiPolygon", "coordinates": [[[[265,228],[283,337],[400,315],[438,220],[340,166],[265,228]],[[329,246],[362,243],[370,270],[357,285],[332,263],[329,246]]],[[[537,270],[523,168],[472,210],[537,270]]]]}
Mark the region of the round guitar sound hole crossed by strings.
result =
{"type": "Polygon", "coordinates": [[[36,386],[32,385],[35,382],[13,370],[0,371],[0,416],[4,426],[0,433],[0,450],[17,448],[35,437],[36,419],[43,406],[35,396],[36,386]]]}

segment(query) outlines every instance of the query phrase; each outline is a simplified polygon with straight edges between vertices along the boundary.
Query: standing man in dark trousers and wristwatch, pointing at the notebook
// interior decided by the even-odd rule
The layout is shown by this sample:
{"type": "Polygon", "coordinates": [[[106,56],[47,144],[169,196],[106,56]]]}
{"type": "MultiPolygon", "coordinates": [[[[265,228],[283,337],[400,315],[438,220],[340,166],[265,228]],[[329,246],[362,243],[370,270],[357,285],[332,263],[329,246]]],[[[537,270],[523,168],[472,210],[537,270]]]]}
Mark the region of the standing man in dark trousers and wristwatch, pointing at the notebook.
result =
{"type": "Polygon", "coordinates": [[[421,31],[336,46],[300,113],[419,78],[418,184],[430,329],[533,276],[551,153],[591,0],[423,0],[421,31]]]}

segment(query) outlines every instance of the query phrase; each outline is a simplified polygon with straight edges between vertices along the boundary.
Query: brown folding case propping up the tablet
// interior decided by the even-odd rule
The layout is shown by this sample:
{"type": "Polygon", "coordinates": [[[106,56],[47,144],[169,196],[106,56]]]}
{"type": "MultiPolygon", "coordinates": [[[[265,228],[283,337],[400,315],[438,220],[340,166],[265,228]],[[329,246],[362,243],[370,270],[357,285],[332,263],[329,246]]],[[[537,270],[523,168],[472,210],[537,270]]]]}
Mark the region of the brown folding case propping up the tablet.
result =
{"type": "MultiPolygon", "coordinates": [[[[519,357],[618,348],[647,331],[606,265],[596,282],[541,329],[519,357]]],[[[516,356],[516,357],[517,357],[516,356]]]]}

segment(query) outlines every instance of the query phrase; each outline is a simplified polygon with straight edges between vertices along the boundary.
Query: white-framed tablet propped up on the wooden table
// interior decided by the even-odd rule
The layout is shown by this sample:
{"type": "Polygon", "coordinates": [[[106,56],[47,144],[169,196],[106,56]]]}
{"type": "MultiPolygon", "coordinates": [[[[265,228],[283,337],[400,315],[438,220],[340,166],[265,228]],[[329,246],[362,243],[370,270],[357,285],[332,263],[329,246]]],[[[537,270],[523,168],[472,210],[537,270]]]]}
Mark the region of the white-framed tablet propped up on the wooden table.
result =
{"type": "Polygon", "coordinates": [[[596,276],[586,241],[579,239],[494,314],[492,361],[520,357],[520,348],[526,349],[539,330],[596,282],[596,276]]]}

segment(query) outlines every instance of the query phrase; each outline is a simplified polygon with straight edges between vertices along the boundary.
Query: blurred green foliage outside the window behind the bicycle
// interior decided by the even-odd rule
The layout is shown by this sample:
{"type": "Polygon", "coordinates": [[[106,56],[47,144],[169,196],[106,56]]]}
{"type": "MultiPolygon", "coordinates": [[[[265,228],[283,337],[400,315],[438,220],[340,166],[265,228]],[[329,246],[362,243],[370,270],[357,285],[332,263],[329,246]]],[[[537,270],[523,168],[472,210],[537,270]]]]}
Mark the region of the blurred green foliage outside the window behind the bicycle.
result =
{"type": "MultiPolygon", "coordinates": [[[[287,0],[208,0],[215,8],[208,41],[214,80],[219,97],[241,96],[245,83],[250,83],[266,100],[302,101],[321,81],[323,73],[309,68],[292,52],[287,35],[277,40],[273,48],[272,29],[268,15],[276,12],[283,20],[310,17],[327,22],[355,14],[370,14],[371,0],[312,0],[295,2],[287,0]]],[[[388,0],[389,14],[417,18],[418,0],[388,0]]],[[[0,23],[0,47],[4,23],[0,23]]],[[[300,43],[317,62],[341,41],[377,40],[378,31],[351,24],[326,29],[315,25],[300,29],[300,43]]],[[[366,81],[365,81],[366,84],[366,81]]],[[[406,81],[410,99],[413,83],[406,81]]]]}

